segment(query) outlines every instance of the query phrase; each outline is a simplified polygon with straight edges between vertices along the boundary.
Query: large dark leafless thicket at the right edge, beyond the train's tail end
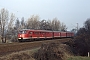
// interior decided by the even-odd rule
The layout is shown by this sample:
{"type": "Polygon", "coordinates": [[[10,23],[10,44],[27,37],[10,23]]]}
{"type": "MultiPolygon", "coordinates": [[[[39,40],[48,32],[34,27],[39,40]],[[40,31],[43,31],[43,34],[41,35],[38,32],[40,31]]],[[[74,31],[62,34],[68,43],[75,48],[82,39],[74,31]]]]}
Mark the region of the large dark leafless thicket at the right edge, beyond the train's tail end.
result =
{"type": "Polygon", "coordinates": [[[69,45],[73,47],[77,55],[87,56],[90,52],[90,19],[85,21],[84,27],[77,31],[74,40],[69,45]]]}

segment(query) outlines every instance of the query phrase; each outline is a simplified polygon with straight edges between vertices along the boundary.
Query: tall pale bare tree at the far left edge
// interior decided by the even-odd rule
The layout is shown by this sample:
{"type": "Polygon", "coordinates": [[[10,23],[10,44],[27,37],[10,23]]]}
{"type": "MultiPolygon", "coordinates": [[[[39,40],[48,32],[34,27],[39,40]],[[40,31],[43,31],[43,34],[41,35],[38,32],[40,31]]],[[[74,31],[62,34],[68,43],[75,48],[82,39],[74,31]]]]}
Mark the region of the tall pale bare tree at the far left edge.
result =
{"type": "Polygon", "coordinates": [[[8,11],[6,9],[1,9],[0,12],[0,23],[1,23],[1,37],[2,37],[2,43],[4,43],[4,37],[5,37],[5,29],[7,27],[8,23],[8,11]]]}

